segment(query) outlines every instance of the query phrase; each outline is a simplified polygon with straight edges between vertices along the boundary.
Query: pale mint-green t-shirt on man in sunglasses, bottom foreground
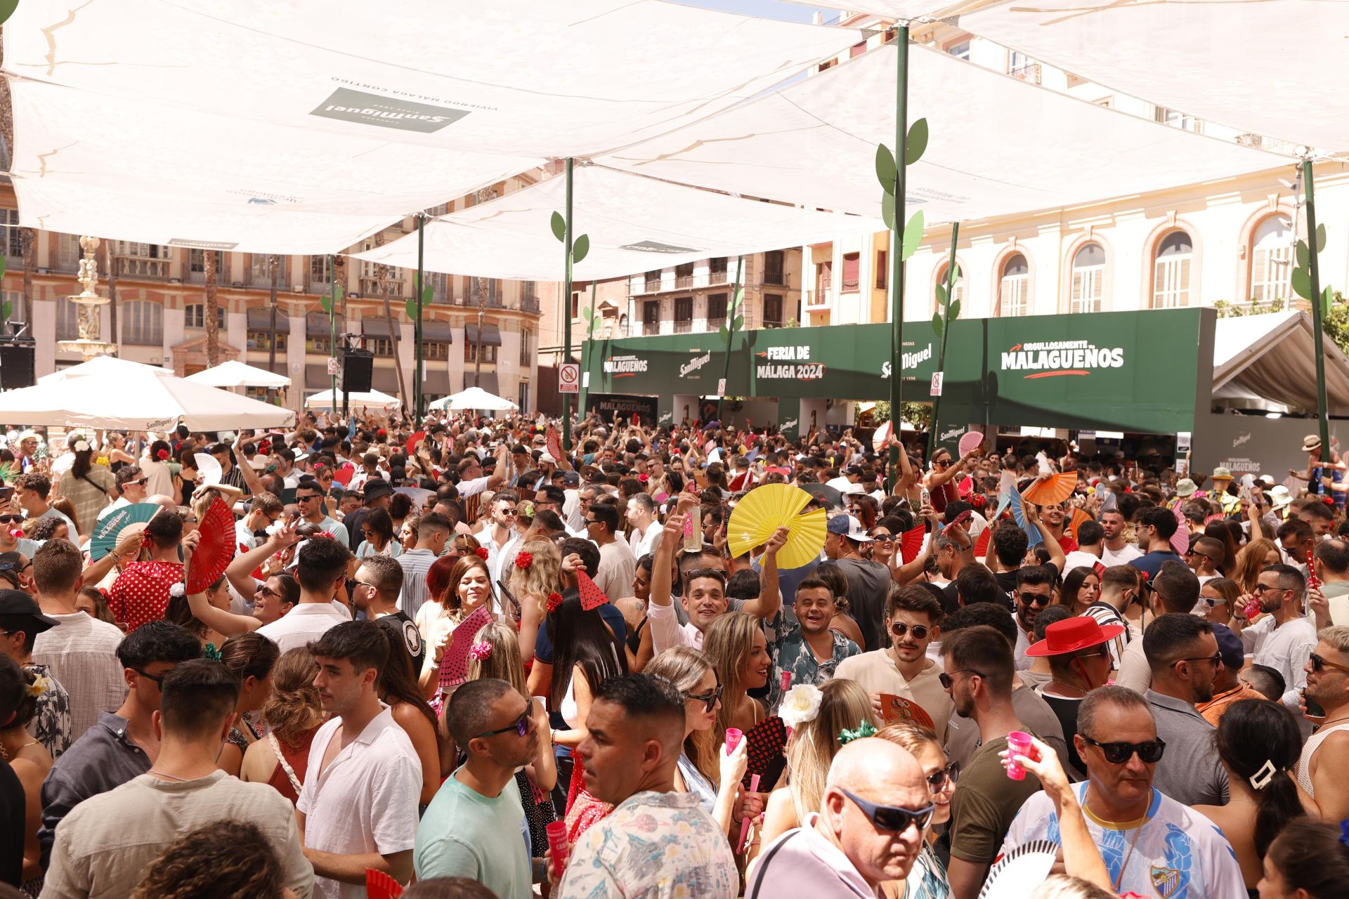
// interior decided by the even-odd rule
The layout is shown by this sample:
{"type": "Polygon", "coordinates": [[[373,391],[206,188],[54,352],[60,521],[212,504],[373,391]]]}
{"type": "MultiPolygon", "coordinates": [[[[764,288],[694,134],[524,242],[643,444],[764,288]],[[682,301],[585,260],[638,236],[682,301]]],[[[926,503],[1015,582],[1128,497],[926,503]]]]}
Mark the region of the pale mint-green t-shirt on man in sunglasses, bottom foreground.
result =
{"type": "Polygon", "coordinates": [[[413,869],[418,880],[468,877],[499,899],[530,899],[527,834],[514,778],[499,797],[488,798],[451,776],[417,825],[413,869]]]}

